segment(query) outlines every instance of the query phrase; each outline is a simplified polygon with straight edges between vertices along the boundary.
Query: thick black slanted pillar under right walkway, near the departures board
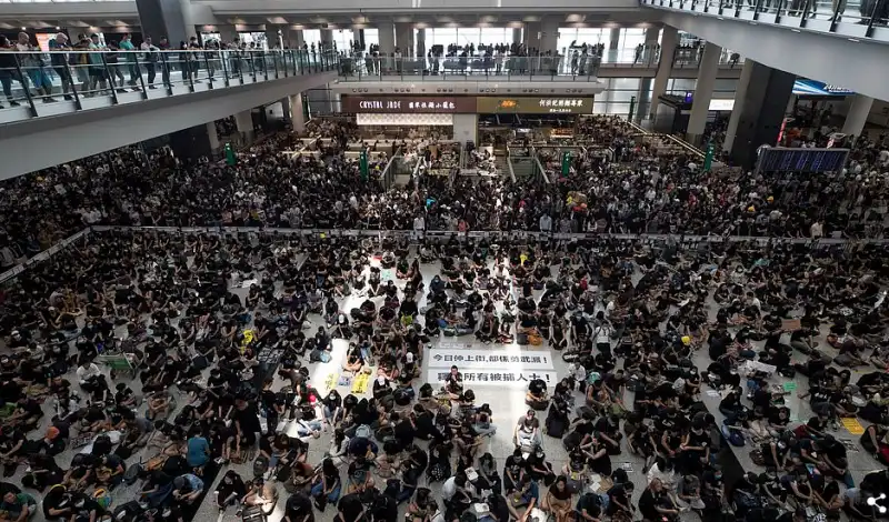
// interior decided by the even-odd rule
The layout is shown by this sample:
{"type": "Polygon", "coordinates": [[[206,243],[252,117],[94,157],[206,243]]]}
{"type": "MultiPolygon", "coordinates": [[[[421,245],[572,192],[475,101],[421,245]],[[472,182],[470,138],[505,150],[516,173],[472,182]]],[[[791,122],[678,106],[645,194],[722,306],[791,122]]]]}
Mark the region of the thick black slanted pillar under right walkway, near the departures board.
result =
{"type": "MultiPolygon", "coordinates": [[[[745,60],[745,67],[748,60],[745,60]]],[[[735,102],[732,112],[739,114],[731,143],[731,159],[748,170],[756,164],[760,145],[778,142],[787,101],[797,79],[796,74],[758,62],[751,63],[749,74],[743,99],[735,102]]],[[[693,103],[698,103],[697,93],[693,103]]]]}

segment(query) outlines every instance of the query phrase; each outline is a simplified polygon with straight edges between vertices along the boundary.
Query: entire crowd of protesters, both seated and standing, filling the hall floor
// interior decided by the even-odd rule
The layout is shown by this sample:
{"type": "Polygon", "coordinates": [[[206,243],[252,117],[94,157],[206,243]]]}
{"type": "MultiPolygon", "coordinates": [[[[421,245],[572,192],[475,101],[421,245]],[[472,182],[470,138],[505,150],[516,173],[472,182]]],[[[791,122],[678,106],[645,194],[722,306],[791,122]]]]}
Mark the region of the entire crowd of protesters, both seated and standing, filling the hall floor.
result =
{"type": "MultiPolygon", "coordinates": [[[[573,165],[598,184],[578,172],[551,189],[429,177],[383,191],[342,153],[348,131],[322,126],[312,130],[329,135],[320,159],[281,153],[294,143],[277,137],[234,167],[129,149],[13,180],[4,228],[39,248],[41,233],[50,244],[102,222],[422,237],[427,223],[556,230],[566,212],[615,215],[612,202],[649,201],[682,218],[671,223],[683,232],[722,227],[731,214],[719,208],[813,211],[777,181],[732,191],[681,154],[633,143],[616,121],[587,126],[615,149],[611,163],[573,165]]],[[[877,245],[93,232],[3,290],[0,459],[12,479],[0,483],[0,519],[41,510],[47,520],[187,522],[214,505],[244,520],[278,509],[288,522],[329,506],[341,522],[673,522],[692,511],[872,520],[868,500],[889,473],[852,476],[836,425],[860,419],[858,446],[889,463],[886,259],[877,245]],[[503,395],[460,368],[423,378],[430,350],[450,337],[547,347],[571,364],[557,383],[531,377],[529,410],[503,419],[503,395]],[[330,383],[329,371],[339,375],[330,383]],[[799,422],[791,413],[803,411],[772,385],[797,374],[812,412],[799,422]],[[705,391],[719,393],[718,406],[705,391]],[[758,466],[730,484],[716,410],[726,440],[749,441],[758,466]],[[498,436],[515,452],[499,454],[498,436]],[[323,455],[310,451],[321,444],[323,455]],[[612,463],[629,453],[643,461],[641,492],[636,471],[612,463]]]]}

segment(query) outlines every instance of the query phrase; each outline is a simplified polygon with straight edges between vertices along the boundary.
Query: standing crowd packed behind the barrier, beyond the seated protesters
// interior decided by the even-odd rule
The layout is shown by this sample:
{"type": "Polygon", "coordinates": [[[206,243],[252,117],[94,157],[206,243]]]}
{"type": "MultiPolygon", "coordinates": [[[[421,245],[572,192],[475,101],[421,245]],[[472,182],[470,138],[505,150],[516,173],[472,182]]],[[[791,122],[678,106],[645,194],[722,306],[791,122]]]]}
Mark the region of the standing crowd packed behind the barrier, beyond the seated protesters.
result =
{"type": "Polygon", "coordinates": [[[726,175],[703,171],[685,154],[659,155],[610,118],[585,124],[582,132],[613,152],[577,154],[568,175],[550,171],[549,184],[421,179],[383,191],[378,178],[384,164],[362,177],[341,153],[357,139],[353,130],[339,124],[314,129],[336,139],[318,158],[296,161],[280,153],[293,147],[286,135],[246,151],[233,167],[186,165],[163,151],[120,149],[6,181],[2,229],[13,257],[33,254],[84,224],[411,229],[421,215],[427,230],[882,233],[889,152],[881,142],[861,139],[839,175],[726,175]]]}

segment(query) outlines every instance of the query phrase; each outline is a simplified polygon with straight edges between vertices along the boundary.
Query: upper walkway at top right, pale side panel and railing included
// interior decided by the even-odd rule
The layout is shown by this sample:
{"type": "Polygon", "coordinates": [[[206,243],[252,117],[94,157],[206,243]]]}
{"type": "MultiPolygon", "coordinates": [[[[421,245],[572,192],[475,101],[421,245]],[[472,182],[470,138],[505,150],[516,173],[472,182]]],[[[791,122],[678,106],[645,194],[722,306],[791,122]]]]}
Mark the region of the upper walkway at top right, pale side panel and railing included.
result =
{"type": "Polygon", "coordinates": [[[658,21],[749,60],[889,100],[889,0],[640,0],[658,21]]]}

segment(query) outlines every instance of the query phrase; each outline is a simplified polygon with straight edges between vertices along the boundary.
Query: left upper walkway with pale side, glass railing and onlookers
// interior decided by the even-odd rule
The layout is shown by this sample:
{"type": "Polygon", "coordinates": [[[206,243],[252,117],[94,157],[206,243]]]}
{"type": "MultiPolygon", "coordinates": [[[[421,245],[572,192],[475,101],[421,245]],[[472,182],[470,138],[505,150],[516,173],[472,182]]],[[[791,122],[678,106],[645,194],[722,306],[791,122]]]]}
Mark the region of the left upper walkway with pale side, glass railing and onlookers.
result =
{"type": "Polygon", "coordinates": [[[108,63],[103,53],[96,54],[100,64],[84,68],[17,60],[12,76],[0,70],[7,74],[4,87],[16,86],[8,94],[18,103],[8,108],[0,99],[7,107],[0,109],[0,179],[202,126],[328,84],[337,76],[336,61],[300,61],[291,52],[161,53],[156,62],[134,57],[129,63],[108,63]],[[80,71],[87,72],[86,87],[80,71]],[[111,74],[123,80],[110,86],[111,74]]]}

